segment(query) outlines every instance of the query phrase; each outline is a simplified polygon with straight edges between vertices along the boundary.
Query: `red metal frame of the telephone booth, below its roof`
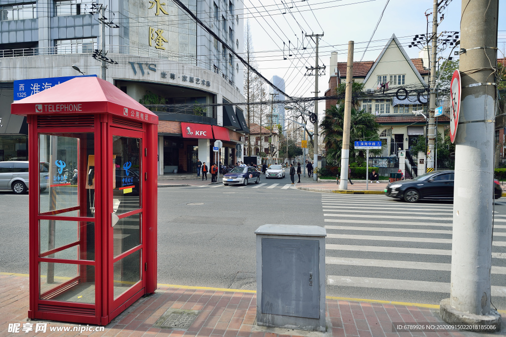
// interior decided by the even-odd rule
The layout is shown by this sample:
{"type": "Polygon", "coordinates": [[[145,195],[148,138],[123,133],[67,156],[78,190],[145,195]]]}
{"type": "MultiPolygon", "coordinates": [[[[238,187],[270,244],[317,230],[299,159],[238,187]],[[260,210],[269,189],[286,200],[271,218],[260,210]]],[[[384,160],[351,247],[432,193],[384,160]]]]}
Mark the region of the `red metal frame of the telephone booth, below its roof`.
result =
{"type": "MultiPolygon", "coordinates": [[[[117,118],[117,117],[116,117],[117,118]]],[[[61,128],[37,128],[37,116],[27,116],[29,127],[28,147],[29,153],[38,154],[38,135],[57,134],[79,137],[78,158],[78,181],[85,181],[87,174],[87,140],[86,133],[93,132],[95,140],[95,216],[87,217],[87,193],[84,184],[78,187],[78,206],[62,210],[39,212],[39,174],[38,155],[30,157],[29,163],[29,243],[30,243],[30,310],[28,316],[34,319],[51,319],[71,321],[87,324],[109,323],[115,316],[134,303],[141,296],[153,293],[156,290],[156,189],[157,189],[157,127],[153,124],[144,123],[143,130],[112,124],[111,115],[96,115],[95,127],[81,129],[72,132],[72,128],[62,125],[61,128]],[[111,226],[112,213],[112,135],[141,138],[141,174],[140,180],[140,208],[128,213],[120,214],[119,218],[125,218],[141,213],[141,245],[126,251],[117,257],[113,257],[113,228],[111,226]],[[103,147],[103,144],[107,146],[103,147]],[[145,156],[147,149],[147,156],[145,156]],[[144,180],[147,173],[148,179],[144,180]],[[65,216],[66,212],[79,210],[79,216],[65,216]],[[78,239],[50,251],[40,252],[39,231],[40,220],[64,220],[75,221],[78,230],[78,239]],[[88,223],[93,222],[95,228],[95,260],[88,260],[87,230],[88,223]],[[100,225],[102,224],[102,225],[100,225]],[[150,227],[147,226],[149,224],[150,227]],[[61,252],[72,247],[79,247],[76,260],[50,258],[52,254],[61,252]],[[123,294],[114,299],[113,293],[113,264],[116,261],[137,251],[141,251],[140,272],[141,280],[133,284],[123,294]],[[72,277],[65,282],[56,285],[39,294],[40,287],[40,262],[73,264],[78,268],[78,276],[72,277]],[[145,264],[148,269],[145,271],[145,264]],[[95,267],[95,304],[64,302],[52,300],[51,296],[57,297],[78,282],[88,279],[87,266],[95,267]],[[41,299],[43,297],[49,299],[41,299]],[[52,309],[54,308],[54,309],[52,309]]]]}

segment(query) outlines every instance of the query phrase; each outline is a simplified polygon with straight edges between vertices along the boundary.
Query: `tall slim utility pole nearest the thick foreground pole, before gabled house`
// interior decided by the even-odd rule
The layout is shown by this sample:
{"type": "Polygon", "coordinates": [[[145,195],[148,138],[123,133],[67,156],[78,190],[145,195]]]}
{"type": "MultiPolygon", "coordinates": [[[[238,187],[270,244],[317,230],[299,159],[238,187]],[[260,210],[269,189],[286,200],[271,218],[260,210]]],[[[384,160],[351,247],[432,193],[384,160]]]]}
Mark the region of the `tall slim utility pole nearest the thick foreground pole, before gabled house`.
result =
{"type": "MultiPolygon", "coordinates": [[[[441,0],[442,2],[442,0],[441,0]]],[[[439,3],[440,4],[440,3],[439,3]]],[[[437,59],[437,44],[438,44],[438,0],[434,0],[432,9],[432,42],[431,42],[431,79],[430,79],[430,98],[429,98],[429,111],[427,117],[429,118],[429,127],[427,129],[428,141],[428,154],[427,154],[427,168],[434,168],[434,139],[436,138],[436,124],[434,122],[434,110],[436,110],[436,59],[437,59]]]]}

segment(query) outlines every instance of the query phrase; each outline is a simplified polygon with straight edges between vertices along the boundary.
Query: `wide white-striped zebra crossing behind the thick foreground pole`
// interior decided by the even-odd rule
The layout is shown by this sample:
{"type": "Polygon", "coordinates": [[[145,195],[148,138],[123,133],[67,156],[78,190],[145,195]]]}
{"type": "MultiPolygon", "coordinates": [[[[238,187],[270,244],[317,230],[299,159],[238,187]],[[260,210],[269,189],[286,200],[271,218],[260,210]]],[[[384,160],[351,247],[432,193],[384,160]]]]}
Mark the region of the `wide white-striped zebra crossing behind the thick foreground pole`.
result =
{"type": "MultiPolygon", "coordinates": [[[[321,205],[332,296],[432,304],[449,297],[452,204],[322,194],[321,205]]],[[[495,205],[491,296],[505,309],[506,205],[495,205]]]]}

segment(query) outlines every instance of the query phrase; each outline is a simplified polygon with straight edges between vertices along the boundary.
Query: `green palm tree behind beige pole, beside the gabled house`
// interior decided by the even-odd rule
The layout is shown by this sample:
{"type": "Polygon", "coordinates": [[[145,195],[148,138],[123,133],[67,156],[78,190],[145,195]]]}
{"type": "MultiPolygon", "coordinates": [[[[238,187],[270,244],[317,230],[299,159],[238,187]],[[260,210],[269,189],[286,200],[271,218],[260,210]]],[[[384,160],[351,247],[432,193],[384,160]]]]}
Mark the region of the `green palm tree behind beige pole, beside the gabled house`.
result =
{"type": "MultiPolygon", "coordinates": [[[[352,86],[352,108],[350,123],[350,163],[361,163],[364,155],[361,151],[355,150],[355,140],[379,140],[379,124],[375,121],[374,115],[359,110],[358,100],[361,96],[363,83],[353,82],[352,86]]],[[[344,97],[345,85],[341,84],[336,89],[336,93],[344,97]]],[[[343,125],[345,115],[344,99],[338,101],[338,104],[325,110],[325,118],[320,123],[323,131],[323,142],[327,148],[327,161],[340,162],[341,150],[343,148],[343,125]]],[[[373,154],[381,153],[382,150],[372,150],[373,154]]]]}

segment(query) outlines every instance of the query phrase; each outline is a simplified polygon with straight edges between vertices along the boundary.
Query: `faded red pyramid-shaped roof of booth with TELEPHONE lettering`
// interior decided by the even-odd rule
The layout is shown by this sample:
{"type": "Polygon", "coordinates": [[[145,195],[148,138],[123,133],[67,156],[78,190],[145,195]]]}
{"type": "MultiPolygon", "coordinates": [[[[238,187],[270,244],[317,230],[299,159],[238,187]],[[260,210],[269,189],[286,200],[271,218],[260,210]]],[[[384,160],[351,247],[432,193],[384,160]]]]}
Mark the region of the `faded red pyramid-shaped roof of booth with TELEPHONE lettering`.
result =
{"type": "Polygon", "coordinates": [[[110,82],[76,77],[14,102],[13,115],[72,115],[109,113],[139,122],[158,124],[158,116],[110,82]],[[142,119],[141,119],[142,116],[142,119]]]}

